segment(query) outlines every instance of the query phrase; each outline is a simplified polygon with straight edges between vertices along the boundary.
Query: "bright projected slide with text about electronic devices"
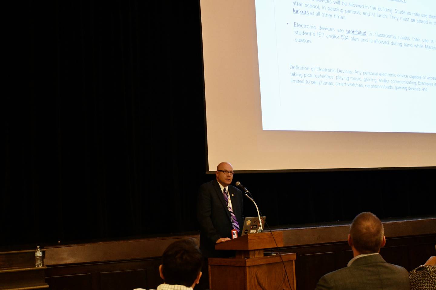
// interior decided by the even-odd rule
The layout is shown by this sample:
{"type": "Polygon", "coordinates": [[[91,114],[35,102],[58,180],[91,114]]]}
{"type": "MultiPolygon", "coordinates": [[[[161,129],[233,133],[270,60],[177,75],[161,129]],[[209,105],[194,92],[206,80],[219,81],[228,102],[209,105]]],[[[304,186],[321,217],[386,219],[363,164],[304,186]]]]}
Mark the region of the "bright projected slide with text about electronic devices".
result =
{"type": "Polygon", "coordinates": [[[256,0],[263,130],[436,133],[436,1],[256,0]]]}

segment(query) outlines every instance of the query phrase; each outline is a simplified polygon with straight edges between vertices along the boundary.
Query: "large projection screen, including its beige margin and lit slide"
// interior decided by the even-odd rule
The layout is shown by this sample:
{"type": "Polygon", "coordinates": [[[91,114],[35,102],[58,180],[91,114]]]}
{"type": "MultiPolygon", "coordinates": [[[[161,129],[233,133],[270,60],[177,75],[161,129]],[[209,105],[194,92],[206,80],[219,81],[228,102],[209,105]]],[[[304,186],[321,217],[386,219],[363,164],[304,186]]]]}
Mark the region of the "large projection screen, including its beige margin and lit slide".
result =
{"type": "Polygon", "coordinates": [[[206,171],[436,166],[436,2],[200,10],[206,171]]]}

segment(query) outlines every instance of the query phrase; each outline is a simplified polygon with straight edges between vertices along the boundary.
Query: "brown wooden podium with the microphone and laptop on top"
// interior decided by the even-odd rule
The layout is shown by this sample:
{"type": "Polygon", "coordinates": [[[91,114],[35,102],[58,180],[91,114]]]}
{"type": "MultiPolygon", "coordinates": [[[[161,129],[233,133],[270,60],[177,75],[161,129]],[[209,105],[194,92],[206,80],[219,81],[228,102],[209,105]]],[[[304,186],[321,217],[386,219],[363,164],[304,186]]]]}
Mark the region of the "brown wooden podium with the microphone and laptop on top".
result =
{"type": "Polygon", "coordinates": [[[236,250],[235,258],[209,258],[212,290],[296,290],[295,253],[264,256],[263,249],[283,247],[283,232],[255,233],[215,245],[216,250],[236,250]],[[274,239],[276,242],[274,242],[274,239]],[[289,277],[290,285],[285,275],[289,277]],[[291,288],[290,288],[291,286],[291,288]]]}

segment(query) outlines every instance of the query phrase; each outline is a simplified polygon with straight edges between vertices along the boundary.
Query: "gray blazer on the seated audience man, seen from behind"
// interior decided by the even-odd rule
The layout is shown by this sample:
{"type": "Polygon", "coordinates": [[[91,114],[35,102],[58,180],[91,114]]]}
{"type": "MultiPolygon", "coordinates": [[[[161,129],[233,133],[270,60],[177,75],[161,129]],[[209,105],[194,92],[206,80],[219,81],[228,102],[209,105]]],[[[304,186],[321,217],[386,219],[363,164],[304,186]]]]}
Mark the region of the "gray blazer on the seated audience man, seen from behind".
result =
{"type": "Polygon", "coordinates": [[[360,257],[321,277],[316,290],[409,290],[409,273],[386,263],[381,255],[360,257]]]}

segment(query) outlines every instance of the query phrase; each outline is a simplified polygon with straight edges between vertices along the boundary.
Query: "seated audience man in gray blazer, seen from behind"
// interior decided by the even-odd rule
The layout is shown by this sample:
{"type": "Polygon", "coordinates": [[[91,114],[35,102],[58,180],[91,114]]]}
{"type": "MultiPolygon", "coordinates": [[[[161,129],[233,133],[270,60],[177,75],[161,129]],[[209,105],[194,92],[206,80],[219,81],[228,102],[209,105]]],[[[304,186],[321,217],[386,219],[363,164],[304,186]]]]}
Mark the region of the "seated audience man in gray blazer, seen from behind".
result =
{"type": "Polygon", "coordinates": [[[358,214],[351,223],[348,244],[354,258],[348,267],[327,273],[316,290],[409,290],[409,274],[386,263],[379,254],[385,246],[383,224],[373,213],[358,214]]]}

